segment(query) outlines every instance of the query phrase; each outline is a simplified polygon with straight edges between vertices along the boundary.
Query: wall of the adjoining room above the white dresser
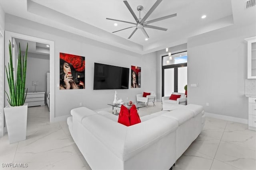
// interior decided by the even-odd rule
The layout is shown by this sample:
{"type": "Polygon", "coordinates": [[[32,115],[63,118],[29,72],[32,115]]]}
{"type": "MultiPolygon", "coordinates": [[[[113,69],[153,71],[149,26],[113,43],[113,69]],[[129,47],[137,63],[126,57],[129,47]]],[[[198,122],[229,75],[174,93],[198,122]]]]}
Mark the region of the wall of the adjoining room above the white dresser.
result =
{"type": "MultiPolygon", "coordinates": [[[[24,52],[22,55],[25,56],[24,52]]],[[[50,59],[47,55],[28,53],[26,88],[28,92],[34,92],[35,86],[32,81],[38,81],[37,92],[46,93],[46,72],[50,72],[50,59]]]]}

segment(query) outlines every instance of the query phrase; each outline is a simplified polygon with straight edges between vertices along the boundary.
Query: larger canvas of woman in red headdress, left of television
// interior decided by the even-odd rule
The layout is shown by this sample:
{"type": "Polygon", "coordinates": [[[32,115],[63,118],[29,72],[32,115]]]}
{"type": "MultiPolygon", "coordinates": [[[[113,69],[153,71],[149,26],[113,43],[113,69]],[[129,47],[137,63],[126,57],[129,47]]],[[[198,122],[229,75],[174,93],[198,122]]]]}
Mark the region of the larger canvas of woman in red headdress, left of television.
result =
{"type": "Polygon", "coordinates": [[[60,53],[60,89],[84,89],[85,57],[60,53]]]}

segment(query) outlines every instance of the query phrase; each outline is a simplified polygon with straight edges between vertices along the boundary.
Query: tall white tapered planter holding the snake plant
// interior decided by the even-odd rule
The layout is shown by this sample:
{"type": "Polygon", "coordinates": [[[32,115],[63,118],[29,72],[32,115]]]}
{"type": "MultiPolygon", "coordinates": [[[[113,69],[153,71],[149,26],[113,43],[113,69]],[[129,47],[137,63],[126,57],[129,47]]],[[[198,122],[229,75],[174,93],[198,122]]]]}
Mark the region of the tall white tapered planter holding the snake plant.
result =
{"type": "Polygon", "coordinates": [[[26,140],[28,104],[6,106],[4,115],[10,144],[26,140]]]}

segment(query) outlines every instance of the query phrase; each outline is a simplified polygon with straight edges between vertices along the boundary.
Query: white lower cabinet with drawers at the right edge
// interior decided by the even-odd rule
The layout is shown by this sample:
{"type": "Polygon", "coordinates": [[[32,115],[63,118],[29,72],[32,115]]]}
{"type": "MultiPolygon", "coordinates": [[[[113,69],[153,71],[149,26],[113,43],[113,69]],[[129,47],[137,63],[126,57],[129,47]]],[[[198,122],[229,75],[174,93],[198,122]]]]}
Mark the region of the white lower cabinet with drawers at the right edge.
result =
{"type": "Polygon", "coordinates": [[[249,98],[248,102],[248,129],[256,130],[256,98],[249,98]]]}

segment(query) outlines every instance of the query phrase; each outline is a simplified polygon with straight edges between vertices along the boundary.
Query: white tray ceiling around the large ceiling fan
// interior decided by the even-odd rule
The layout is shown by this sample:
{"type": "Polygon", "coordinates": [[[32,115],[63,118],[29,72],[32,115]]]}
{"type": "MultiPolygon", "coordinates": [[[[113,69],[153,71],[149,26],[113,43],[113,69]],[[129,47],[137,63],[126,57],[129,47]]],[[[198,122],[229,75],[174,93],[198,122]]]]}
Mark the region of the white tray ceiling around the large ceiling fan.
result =
{"type": "MultiPolygon", "coordinates": [[[[137,6],[144,10],[141,18],[156,0],[128,0],[139,16],[137,6]]],[[[69,31],[138,54],[146,54],[186,43],[188,37],[229,25],[256,23],[256,6],[246,9],[246,0],[163,0],[147,20],[177,13],[176,17],[150,25],[167,28],[167,31],[139,29],[130,38],[134,26],[130,23],[106,20],[113,18],[136,23],[122,0],[1,0],[3,10],[14,16],[69,31]],[[205,19],[201,19],[206,15],[205,19]],[[114,26],[118,23],[118,26],[114,26]]]]}

